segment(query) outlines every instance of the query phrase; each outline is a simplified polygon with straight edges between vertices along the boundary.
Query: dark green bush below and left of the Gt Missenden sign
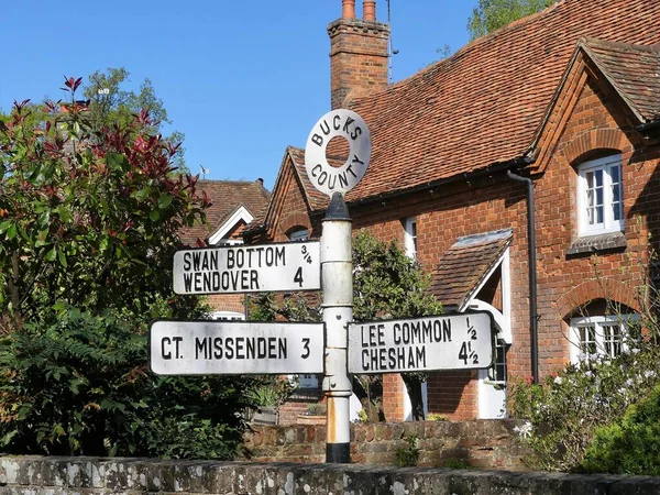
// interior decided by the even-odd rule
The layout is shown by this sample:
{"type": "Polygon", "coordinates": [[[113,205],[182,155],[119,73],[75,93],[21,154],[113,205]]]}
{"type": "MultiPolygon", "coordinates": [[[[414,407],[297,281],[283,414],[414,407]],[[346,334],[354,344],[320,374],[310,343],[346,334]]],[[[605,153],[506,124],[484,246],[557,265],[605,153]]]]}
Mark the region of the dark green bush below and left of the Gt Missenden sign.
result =
{"type": "Polygon", "coordinates": [[[8,453],[231,459],[245,378],[163,377],[147,338],[76,309],[0,340],[0,448],[8,453]]]}

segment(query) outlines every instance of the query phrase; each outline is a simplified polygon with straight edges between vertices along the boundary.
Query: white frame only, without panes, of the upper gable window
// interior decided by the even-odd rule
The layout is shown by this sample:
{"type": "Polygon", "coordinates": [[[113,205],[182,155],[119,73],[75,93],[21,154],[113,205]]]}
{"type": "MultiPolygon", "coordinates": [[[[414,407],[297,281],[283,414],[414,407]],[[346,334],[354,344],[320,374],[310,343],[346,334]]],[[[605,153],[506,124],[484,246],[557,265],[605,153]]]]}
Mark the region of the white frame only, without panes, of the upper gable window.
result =
{"type": "Polygon", "coordinates": [[[603,158],[591,160],[584,162],[578,167],[578,219],[579,219],[579,234],[584,235],[596,235],[607,232],[622,232],[624,231],[624,187],[623,187],[623,163],[622,155],[610,155],[603,158]],[[613,215],[613,184],[612,184],[612,167],[618,167],[619,175],[619,220],[614,219],[613,215]],[[586,213],[587,209],[587,182],[586,175],[590,172],[603,172],[603,222],[588,223],[586,213]]]}

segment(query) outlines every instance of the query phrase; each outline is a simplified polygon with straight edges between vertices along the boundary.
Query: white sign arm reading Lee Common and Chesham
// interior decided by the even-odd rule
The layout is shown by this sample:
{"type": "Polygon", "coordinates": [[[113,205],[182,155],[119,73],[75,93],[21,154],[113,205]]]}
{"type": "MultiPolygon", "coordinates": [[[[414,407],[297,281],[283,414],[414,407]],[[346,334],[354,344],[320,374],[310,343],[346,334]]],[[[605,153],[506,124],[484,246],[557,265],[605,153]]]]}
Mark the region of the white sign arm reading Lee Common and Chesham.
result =
{"type": "Polygon", "coordinates": [[[349,324],[349,373],[476,370],[493,364],[491,315],[349,324]]]}

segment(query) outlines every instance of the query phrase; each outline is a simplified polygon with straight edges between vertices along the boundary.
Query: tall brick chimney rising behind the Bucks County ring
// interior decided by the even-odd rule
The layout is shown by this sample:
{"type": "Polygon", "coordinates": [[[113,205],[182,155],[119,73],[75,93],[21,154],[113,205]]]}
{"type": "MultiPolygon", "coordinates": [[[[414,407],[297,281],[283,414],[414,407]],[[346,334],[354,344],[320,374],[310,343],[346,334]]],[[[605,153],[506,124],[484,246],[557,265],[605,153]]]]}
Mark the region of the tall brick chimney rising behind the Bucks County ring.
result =
{"type": "Polygon", "coordinates": [[[328,26],[332,109],[387,86],[389,25],[376,21],[373,0],[363,0],[362,14],[355,18],[355,0],[342,0],[341,19],[328,26]]]}

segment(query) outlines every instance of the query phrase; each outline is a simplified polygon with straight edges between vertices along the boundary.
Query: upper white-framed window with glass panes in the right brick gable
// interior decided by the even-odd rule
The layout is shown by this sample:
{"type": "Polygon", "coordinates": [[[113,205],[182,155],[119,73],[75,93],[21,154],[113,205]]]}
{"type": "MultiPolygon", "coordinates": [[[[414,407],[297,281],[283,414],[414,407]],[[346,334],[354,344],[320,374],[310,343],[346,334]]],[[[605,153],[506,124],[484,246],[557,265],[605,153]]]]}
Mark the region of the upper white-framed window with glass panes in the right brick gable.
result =
{"type": "Polygon", "coordinates": [[[580,235],[624,230],[622,156],[584,162],[578,167],[580,235]]]}

